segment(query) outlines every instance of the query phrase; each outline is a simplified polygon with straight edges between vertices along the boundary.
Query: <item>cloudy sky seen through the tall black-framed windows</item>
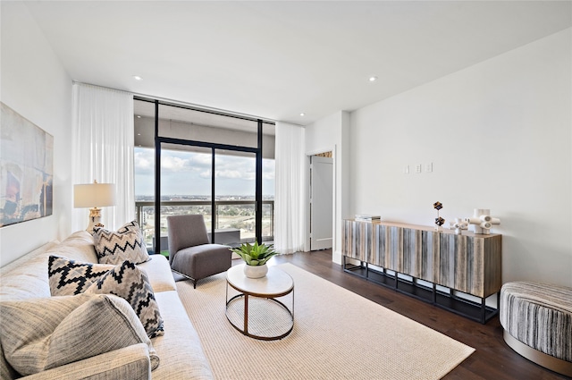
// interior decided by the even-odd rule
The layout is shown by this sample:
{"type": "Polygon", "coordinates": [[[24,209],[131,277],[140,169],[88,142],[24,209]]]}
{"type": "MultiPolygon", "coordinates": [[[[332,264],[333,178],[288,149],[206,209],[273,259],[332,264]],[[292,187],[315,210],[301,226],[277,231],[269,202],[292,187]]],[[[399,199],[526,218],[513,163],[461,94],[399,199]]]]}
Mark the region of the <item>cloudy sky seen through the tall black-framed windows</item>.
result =
{"type": "MultiPolygon", "coordinates": [[[[135,196],[155,193],[155,149],[135,148],[135,196]]],[[[161,150],[163,195],[210,195],[211,155],[181,150],[161,150]]],[[[256,160],[253,157],[215,158],[215,194],[255,196],[256,160]]],[[[274,160],[263,160],[263,196],[274,194],[274,160]]]]}

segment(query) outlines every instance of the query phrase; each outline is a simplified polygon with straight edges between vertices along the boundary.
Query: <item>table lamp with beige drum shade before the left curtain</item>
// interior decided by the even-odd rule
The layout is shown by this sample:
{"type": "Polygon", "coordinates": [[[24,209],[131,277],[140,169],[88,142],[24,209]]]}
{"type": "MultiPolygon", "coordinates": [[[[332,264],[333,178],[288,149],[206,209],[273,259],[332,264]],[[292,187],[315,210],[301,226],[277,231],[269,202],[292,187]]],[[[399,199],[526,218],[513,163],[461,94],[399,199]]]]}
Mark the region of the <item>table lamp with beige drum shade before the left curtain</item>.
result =
{"type": "Polygon", "coordinates": [[[103,227],[101,224],[101,208],[115,206],[114,183],[85,183],[73,185],[73,207],[89,208],[89,224],[86,231],[93,233],[94,227],[103,227]]]}

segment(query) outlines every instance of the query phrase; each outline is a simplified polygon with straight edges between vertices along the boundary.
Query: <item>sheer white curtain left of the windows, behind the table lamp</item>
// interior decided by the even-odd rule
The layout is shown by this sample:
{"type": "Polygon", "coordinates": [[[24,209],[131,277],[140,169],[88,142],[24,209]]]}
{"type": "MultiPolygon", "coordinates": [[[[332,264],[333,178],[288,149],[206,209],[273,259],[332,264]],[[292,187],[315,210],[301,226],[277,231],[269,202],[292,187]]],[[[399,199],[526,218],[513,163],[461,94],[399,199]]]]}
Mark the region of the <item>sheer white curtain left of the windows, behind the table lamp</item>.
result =
{"type": "MultiPolygon", "coordinates": [[[[115,184],[117,205],[102,207],[101,223],[116,229],[135,218],[133,95],[74,83],[72,122],[71,183],[115,184]]],[[[84,230],[88,215],[88,209],[74,209],[72,231],[84,230]]]]}

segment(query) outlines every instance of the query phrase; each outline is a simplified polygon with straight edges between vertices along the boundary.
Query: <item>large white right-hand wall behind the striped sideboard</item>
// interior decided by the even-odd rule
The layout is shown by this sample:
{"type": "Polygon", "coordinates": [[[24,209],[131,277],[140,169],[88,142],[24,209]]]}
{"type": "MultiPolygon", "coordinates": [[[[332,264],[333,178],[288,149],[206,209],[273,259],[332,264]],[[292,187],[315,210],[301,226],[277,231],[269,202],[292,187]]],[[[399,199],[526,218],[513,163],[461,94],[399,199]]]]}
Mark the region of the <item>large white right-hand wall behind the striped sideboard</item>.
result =
{"type": "Polygon", "coordinates": [[[490,208],[501,218],[493,232],[503,235],[503,282],[572,286],[571,36],[564,30],[352,113],[351,212],[433,225],[441,201],[449,225],[490,208]]]}

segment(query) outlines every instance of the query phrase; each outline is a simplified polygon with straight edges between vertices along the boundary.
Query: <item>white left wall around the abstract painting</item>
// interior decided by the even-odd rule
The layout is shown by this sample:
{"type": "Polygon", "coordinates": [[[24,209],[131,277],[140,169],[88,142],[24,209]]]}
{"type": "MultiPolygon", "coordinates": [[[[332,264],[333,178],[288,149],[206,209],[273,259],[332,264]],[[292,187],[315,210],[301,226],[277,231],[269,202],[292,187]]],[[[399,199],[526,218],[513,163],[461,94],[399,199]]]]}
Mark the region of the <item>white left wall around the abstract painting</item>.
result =
{"type": "Polygon", "coordinates": [[[1,2],[0,99],[54,136],[53,215],[0,228],[0,266],[70,234],[71,78],[21,2],[1,2]]]}

